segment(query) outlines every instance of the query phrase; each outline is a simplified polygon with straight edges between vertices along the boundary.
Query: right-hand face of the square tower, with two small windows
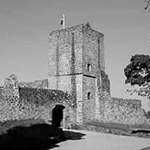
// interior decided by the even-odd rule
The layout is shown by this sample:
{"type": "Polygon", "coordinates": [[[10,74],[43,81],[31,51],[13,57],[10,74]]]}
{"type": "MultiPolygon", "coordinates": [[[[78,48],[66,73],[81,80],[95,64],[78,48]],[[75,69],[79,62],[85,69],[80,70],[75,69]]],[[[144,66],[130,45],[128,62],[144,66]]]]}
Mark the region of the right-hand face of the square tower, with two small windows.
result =
{"type": "Polygon", "coordinates": [[[109,86],[104,80],[101,82],[101,70],[105,71],[103,38],[104,35],[93,30],[89,24],[83,26],[83,123],[96,118],[97,97],[102,87],[107,90],[106,86],[109,86]]]}

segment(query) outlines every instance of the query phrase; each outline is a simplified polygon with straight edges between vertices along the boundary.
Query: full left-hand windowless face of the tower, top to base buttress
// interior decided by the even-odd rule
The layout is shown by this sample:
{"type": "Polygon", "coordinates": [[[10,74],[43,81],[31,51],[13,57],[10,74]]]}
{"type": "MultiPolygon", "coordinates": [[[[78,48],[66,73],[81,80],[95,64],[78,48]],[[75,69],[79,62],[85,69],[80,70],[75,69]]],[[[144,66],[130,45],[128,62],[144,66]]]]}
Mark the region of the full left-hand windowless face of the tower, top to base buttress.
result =
{"type": "Polygon", "coordinates": [[[83,24],[52,31],[49,36],[49,89],[67,91],[76,104],[76,121],[82,124],[83,24]]]}

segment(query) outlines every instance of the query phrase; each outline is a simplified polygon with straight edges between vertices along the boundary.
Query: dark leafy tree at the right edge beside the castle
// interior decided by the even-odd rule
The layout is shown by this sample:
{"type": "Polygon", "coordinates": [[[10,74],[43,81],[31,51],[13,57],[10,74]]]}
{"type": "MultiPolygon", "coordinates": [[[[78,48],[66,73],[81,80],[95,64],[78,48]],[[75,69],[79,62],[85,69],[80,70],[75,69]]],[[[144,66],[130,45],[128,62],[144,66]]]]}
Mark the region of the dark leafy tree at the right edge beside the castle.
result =
{"type": "Polygon", "coordinates": [[[139,89],[128,90],[131,93],[138,93],[141,96],[150,98],[150,56],[134,55],[130,64],[124,69],[125,83],[131,86],[138,85],[139,89]]]}

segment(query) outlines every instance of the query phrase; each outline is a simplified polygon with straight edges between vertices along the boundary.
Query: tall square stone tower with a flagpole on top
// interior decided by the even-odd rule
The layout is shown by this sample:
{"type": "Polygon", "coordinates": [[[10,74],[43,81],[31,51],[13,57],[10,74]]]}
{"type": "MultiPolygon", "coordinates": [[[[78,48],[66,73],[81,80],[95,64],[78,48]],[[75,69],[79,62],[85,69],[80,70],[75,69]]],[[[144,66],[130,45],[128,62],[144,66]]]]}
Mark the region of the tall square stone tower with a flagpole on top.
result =
{"type": "Polygon", "coordinates": [[[76,103],[76,122],[93,120],[105,72],[104,35],[89,23],[52,31],[49,36],[49,88],[67,91],[76,103]]]}

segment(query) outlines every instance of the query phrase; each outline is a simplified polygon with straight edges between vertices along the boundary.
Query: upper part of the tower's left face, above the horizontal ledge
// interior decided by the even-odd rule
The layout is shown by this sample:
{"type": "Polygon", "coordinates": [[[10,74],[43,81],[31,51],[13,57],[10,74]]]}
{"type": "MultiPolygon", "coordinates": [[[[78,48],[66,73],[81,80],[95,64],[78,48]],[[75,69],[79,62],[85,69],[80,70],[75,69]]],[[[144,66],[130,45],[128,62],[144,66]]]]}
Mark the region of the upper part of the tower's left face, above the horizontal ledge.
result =
{"type": "Polygon", "coordinates": [[[82,73],[82,27],[77,25],[50,33],[49,77],[82,73]]]}

